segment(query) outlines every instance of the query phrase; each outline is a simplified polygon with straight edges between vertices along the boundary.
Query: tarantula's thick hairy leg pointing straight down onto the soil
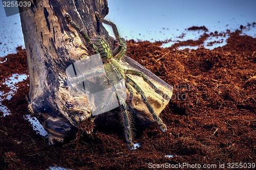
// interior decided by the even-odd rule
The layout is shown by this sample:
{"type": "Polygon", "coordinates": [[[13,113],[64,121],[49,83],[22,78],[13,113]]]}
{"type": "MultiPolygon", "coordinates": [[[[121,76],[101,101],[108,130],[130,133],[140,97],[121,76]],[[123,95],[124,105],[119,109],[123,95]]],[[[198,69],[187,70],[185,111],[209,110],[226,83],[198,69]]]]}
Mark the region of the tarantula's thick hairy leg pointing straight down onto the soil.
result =
{"type": "Polygon", "coordinates": [[[122,122],[122,126],[124,128],[125,139],[127,141],[128,148],[132,151],[135,149],[134,143],[133,143],[133,132],[131,128],[132,116],[131,116],[131,113],[127,110],[126,103],[123,99],[120,100],[120,109],[121,109],[121,112],[119,113],[119,116],[122,122]]]}

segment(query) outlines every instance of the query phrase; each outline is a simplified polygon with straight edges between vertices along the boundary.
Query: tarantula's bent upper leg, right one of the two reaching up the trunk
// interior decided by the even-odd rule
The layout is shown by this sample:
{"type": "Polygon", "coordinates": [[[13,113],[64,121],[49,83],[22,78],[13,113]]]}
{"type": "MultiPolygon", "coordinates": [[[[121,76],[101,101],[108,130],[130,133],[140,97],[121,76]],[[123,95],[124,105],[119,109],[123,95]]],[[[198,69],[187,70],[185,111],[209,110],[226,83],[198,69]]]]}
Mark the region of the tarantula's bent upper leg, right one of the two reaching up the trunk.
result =
{"type": "Polygon", "coordinates": [[[96,16],[98,17],[99,20],[101,20],[103,23],[105,23],[106,25],[109,25],[112,27],[112,30],[114,32],[114,35],[118,41],[118,46],[115,48],[115,50],[113,51],[113,56],[119,61],[125,54],[126,52],[126,44],[125,44],[125,40],[124,38],[121,38],[118,30],[116,28],[115,23],[105,20],[103,19],[98,12],[95,12],[96,16]]]}

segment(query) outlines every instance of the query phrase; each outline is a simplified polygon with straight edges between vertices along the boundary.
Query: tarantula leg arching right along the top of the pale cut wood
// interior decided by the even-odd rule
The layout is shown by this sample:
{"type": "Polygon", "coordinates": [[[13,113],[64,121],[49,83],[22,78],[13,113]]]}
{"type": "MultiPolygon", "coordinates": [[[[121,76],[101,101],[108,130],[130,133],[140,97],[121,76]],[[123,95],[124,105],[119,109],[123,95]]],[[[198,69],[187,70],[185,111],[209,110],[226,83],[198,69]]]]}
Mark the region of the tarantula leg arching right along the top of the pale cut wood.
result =
{"type": "Polygon", "coordinates": [[[156,93],[160,94],[163,97],[163,99],[165,99],[165,100],[169,100],[170,99],[168,94],[164,93],[162,90],[157,88],[155,86],[155,84],[152,83],[143,72],[140,72],[140,71],[137,71],[137,70],[132,70],[132,69],[127,69],[127,70],[125,70],[125,74],[130,74],[130,75],[135,75],[135,76],[142,77],[143,80],[145,82],[147,82],[147,84],[149,84],[155,90],[156,93]]]}

